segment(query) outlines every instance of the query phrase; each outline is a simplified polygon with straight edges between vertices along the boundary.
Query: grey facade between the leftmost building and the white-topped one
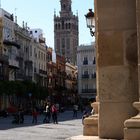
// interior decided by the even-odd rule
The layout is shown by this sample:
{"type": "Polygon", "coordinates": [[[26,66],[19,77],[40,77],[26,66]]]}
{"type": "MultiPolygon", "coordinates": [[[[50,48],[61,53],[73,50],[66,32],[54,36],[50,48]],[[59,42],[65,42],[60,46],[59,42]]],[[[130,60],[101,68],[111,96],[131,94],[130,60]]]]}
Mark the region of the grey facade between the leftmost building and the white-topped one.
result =
{"type": "MultiPolygon", "coordinates": [[[[24,24],[24,23],[23,23],[24,24]]],[[[32,80],[33,78],[33,61],[30,57],[32,38],[24,25],[21,27],[15,23],[14,27],[15,39],[20,44],[17,60],[19,61],[19,69],[16,73],[16,80],[32,80]]]]}

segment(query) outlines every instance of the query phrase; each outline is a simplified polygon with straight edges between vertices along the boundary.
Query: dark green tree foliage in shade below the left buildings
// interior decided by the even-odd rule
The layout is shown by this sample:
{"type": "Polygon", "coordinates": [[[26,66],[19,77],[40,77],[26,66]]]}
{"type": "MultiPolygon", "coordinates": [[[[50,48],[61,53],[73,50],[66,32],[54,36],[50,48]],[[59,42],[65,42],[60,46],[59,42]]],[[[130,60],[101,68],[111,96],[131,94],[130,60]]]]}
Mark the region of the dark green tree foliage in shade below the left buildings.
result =
{"type": "Polygon", "coordinates": [[[48,96],[47,88],[38,86],[31,81],[0,81],[0,94],[29,97],[29,93],[32,93],[32,97],[36,99],[48,96]]]}

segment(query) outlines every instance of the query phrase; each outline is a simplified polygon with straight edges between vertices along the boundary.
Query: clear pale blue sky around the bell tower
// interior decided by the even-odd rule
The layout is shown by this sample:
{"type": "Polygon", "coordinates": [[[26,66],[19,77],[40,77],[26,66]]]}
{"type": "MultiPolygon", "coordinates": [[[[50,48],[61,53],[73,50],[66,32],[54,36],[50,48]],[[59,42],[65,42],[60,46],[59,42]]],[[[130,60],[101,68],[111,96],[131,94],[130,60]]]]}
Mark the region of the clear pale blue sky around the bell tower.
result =
{"type": "MultiPolygon", "coordinates": [[[[60,0],[0,0],[1,8],[17,16],[17,23],[27,22],[30,29],[40,28],[46,44],[54,48],[54,11],[60,12],[60,0]]],[[[93,9],[93,0],[72,0],[72,11],[79,17],[79,45],[90,44],[93,37],[86,26],[85,14],[93,9]]]]}

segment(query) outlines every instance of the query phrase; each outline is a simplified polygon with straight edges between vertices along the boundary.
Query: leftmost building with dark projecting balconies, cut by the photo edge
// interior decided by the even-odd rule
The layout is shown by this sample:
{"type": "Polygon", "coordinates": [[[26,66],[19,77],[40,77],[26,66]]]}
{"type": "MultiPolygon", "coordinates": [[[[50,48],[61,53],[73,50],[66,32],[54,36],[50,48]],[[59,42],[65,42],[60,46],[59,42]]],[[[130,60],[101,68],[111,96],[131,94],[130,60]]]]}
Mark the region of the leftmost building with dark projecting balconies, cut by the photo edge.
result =
{"type": "Polygon", "coordinates": [[[0,80],[15,80],[18,49],[15,40],[13,14],[0,9],[0,80]]]}

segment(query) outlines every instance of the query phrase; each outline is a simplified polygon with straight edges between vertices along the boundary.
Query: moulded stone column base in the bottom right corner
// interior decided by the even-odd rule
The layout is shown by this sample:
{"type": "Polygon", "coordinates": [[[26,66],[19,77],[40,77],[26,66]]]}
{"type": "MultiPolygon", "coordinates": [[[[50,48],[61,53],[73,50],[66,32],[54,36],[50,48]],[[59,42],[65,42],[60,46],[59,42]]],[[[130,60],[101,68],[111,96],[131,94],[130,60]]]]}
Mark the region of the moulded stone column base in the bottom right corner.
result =
{"type": "MultiPolygon", "coordinates": [[[[134,102],[133,106],[140,110],[140,102],[134,102]]],[[[140,114],[124,122],[124,140],[140,140],[140,114]]]]}

